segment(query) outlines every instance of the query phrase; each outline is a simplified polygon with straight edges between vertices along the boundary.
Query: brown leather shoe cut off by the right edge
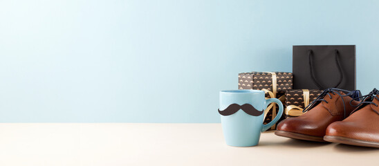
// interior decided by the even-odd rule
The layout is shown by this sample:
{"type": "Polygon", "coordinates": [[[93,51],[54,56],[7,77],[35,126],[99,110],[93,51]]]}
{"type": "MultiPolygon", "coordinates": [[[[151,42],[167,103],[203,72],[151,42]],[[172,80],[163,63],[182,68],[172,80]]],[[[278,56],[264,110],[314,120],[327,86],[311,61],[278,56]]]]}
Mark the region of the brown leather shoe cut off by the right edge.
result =
{"type": "Polygon", "coordinates": [[[348,145],[379,148],[379,91],[373,89],[360,107],[341,122],[326,129],[324,140],[348,145]]]}

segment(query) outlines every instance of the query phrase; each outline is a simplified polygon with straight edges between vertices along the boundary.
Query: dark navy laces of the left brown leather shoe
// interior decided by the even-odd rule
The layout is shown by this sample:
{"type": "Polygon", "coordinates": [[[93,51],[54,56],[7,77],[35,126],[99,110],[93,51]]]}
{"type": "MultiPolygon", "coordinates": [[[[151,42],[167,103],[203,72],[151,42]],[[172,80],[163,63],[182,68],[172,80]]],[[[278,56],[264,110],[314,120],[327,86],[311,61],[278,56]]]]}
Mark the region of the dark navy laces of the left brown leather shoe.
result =
{"type": "Polygon", "coordinates": [[[322,93],[317,96],[317,98],[315,100],[313,100],[313,102],[311,102],[310,104],[308,104],[308,106],[306,106],[303,110],[303,112],[305,113],[306,111],[309,111],[310,109],[312,109],[313,107],[315,107],[318,103],[320,102],[326,102],[326,103],[329,103],[328,101],[326,101],[324,99],[324,97],[326,95],[329,95],[329,98],[331,99],[332,96],[331,96],[331,93],[333,95],[337,94],[340,96],[340,98],[342,98],[342,102],[344,103],[344,118],[346,118],[346,107],[345,107],[345,102],[344,102],[344,98],[345,96],[351,96],[352,98],[359,98],[360,97],[360,91],[359,90],[355,90],[355,91],[347,91],[347,90],[344,90],[344,89],[336,89],[336,88],[330,88],[330,89],[325,89],[324,91],[322,91],[322,93]],[[342,93],[345,93],[346,95],[342,95],[342,93]]]}

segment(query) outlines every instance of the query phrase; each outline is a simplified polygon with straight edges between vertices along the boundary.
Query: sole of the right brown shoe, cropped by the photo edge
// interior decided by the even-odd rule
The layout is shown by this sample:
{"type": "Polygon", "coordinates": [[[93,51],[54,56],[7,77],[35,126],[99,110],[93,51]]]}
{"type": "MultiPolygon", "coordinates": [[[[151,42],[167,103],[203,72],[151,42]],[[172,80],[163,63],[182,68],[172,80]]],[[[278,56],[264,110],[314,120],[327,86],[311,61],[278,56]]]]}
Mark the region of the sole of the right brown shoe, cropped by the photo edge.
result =
{"type": "Polygon", "coordinates": [[[340,136],[324,136],[324,140],[328,142],[342,143],[347,145],[355,145],[360,147],[376,147],[379,148],[379,142],[371,142],[367,140],[357,140],[353,138],[345,138],[340,136]]]}

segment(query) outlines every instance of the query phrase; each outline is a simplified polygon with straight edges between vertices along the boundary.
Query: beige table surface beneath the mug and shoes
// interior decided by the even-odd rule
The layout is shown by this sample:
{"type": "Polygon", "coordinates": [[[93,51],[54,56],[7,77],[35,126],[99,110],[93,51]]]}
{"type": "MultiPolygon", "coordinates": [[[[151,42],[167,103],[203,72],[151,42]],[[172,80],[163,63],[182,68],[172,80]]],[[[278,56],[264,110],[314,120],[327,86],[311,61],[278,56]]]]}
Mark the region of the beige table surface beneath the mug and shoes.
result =
{"type": "Polygon", "coordinates": [[[379,165],[379,149],[262,133],[225,145],[221,124],[2,123],[0,165],[379,165]]]}

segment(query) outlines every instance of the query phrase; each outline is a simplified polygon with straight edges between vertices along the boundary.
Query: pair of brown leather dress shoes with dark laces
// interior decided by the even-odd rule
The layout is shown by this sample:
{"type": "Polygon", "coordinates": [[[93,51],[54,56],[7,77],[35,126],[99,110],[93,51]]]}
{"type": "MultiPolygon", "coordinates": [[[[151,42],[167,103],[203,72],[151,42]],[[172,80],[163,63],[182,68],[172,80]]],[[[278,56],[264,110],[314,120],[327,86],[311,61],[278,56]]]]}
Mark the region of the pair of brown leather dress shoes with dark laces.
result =
{"type": "Polygon", "coordinates": [[[360,91],[326,89],[304,109],[304,115],[281,121],[275,134],[379,148],[378,106],[377,89],[364,96],[360,96],[360,91]]]}

